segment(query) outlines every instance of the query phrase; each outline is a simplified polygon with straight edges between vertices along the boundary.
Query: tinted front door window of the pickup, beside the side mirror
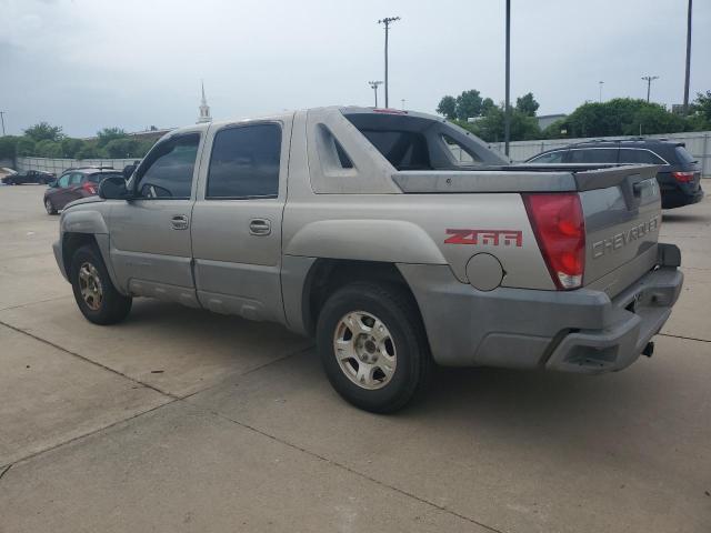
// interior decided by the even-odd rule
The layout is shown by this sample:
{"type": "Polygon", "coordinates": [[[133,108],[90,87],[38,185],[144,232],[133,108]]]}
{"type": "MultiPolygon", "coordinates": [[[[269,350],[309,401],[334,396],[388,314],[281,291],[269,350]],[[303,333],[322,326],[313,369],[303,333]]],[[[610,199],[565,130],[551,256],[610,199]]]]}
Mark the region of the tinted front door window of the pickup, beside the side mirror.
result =
{"type": "Polygon", "coordinates": [[[138,170],[139,198],[186,200],[190,198],[200,134],[168,139],[156,145],[138,170]]]}

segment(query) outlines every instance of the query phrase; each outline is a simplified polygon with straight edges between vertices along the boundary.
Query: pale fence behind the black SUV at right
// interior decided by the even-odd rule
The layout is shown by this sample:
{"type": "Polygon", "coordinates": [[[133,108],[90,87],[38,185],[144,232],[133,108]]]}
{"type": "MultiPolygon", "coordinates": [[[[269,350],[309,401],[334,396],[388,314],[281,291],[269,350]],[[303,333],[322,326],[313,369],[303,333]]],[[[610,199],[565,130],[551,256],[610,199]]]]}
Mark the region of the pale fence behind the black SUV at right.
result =
{"type": "MultiPolygon", "coordinates": [[[[701,175],[704,178],[711,178],[711,131],[691,131],[687,133],[669,133],[667,135],[644,135],[650,139],[667,139],[672,142],[683,142],[687,144],[687,151],[693,155],[693,159],[699,161],[701,167],[701,175]]],[[[603,137],[603,138],[589,138],[589,139],[549,139],[540,141],[515,141],[510,144],[509,154],[511,160],[515,163],[525,161],[537,153],[541,153],[544,150],[552,148],[561,148],[573,142],[592,141],[597,139],[634,139],[634,137],[603,137]]],[[[503,154],[503,142],[492,142],[489,148],[498,150],[503,154]]]]}

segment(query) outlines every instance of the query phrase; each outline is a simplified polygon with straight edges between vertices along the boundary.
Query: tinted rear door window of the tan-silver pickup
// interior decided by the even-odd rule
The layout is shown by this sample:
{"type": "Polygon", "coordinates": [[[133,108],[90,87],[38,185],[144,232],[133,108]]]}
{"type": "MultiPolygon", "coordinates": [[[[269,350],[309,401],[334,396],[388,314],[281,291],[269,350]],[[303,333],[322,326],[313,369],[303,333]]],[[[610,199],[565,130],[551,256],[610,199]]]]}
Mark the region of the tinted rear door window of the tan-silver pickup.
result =
{"type": "Polygon", "coordinates": [[[253,124],[214,135],[207,199],[277,198],[281,127],[253,124]]]}

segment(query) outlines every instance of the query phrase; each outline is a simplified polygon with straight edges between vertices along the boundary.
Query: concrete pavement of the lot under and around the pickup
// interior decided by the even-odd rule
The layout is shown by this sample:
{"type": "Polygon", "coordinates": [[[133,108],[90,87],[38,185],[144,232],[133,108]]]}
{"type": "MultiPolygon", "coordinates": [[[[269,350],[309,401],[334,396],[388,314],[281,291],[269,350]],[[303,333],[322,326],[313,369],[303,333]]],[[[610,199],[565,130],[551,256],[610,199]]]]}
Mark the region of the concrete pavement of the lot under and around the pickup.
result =
{"type": "Polygon", "coordinates": [[[277,325],[89,324],[41,193],[0,188],[0,532],[711,531],[710,201],[664,215],[687,283],[652,359],[440,370],[375,416],[277,325]]]}

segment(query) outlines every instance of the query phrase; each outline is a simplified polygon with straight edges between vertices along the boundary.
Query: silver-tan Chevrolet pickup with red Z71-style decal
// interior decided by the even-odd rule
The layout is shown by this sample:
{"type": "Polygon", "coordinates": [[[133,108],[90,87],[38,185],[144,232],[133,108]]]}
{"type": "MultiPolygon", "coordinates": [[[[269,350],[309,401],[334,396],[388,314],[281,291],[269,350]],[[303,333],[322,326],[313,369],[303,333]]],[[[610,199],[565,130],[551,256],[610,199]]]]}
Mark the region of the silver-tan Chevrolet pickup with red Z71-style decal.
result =
{"type": "Polygon", "coordinates": [[[390,412],[433,362],[651,354],[683,280],[655,172],[507,165],[439,117],[320,108],[170,132],[64,210],[53,250],[93,323],[136,296],[278,322],[316,338],[344,399],[390,412]]]}

